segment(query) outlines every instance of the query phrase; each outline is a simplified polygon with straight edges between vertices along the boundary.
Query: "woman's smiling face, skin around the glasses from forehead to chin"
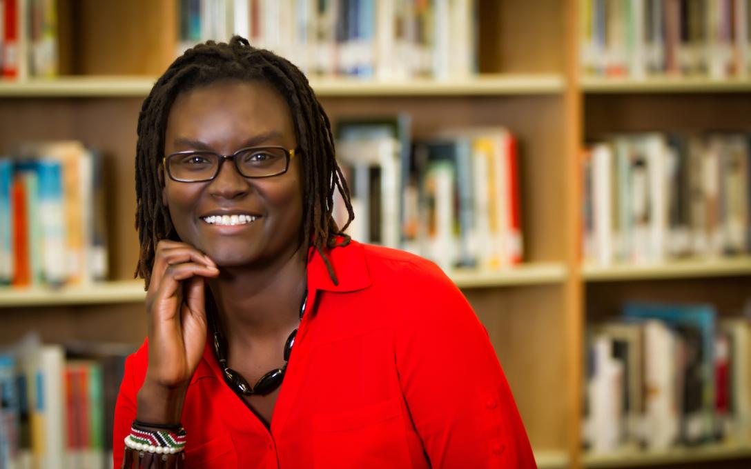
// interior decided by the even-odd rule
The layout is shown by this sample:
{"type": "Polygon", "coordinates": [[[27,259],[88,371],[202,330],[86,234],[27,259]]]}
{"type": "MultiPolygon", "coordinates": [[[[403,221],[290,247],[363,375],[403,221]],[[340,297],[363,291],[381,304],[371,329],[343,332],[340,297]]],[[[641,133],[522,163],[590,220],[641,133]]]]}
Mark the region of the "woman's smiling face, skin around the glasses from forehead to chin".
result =
{"type": "MultiPolygon", "coordinates": [[[[164,155],[202,150],[231,155],[248,146],[297,147],[290,110],[266,83],[215,83],[177,96],[167,119],[164,155]]],[[[287,173],[249,179],[225,160],[216,179],[176,182],[164,177],[162,200],[183,242],[219,266],[267,263],[299,247],[303,218],[300,161],[287,173]],[[210,215],[251,215],[234,226],[210,224],[210,215]]]]}

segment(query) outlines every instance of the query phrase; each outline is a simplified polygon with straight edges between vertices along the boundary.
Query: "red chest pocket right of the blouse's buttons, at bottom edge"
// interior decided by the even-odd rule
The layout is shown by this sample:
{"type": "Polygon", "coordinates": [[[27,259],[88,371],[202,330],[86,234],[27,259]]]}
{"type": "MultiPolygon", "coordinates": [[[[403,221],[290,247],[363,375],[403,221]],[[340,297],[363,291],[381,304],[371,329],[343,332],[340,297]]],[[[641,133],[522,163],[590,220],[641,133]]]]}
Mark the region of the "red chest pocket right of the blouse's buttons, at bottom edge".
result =
{"type": "Polygon", "coordinates": [[[313,467],[412,467],[399,398],[313,416],[313,467]]]}

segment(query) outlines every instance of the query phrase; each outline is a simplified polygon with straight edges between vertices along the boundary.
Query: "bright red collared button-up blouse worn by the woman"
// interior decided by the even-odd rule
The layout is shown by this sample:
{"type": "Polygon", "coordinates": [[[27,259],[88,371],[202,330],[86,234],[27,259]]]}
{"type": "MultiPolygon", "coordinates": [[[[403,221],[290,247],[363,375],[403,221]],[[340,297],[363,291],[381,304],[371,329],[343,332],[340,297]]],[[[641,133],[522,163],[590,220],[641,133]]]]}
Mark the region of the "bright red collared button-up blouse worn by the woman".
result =
{"type": "MultiPolygon", "coordinates": [[[[308,265],[308,304],[270,430],[225,384],[207,342],[182,425],[185,467],[535,467],[482,324],[433,263],[351,242],[308,265]]],[[[147,344],[128,357],[114,463],[136,415],[147,344]]]]}

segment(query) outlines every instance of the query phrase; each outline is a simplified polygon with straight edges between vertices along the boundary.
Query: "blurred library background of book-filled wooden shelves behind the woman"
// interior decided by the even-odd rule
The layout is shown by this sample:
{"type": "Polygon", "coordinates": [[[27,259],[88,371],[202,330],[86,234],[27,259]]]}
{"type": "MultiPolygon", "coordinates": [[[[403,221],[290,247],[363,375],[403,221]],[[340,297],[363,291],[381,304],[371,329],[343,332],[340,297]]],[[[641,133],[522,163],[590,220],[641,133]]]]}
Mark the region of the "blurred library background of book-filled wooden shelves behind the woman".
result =
{"type": "Polygon", "coordinates": [[[463,290],[539,467],[751,467],[748,0],[0,0],[0,19],[0,468],[110,467],[146,335],[137,114],[183,50],[234,33],[309,77],[352,236],[463,290]]]}

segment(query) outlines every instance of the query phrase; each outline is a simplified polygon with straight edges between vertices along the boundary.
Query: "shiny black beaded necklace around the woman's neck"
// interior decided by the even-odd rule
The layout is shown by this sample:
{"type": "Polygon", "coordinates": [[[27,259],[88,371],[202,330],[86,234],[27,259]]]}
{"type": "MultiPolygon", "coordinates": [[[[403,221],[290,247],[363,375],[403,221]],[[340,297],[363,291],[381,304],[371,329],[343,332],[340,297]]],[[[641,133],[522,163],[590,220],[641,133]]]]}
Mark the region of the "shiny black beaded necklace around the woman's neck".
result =
{"type": "MultiPolygon", "coordinates": [[[[306,302],[308,301],[308,290],[303,294],[303,302],[300,303],[300,320],[305,313],[306,302]]],[[[261,376],[255,386],[250,387],[248,381],[237,371],[227,366],[227,341],[219,332],[216,326],[216,314],[212,314],[212,323],[214,329],[214,353],[219,360],[219,366],[222,367],[222,375],[225,377],[227,384],[236,392],[242,395],[267,395],[274,389],[282,385],[285,372],[287,371],[287,362],[292,353],[294,338],[297,335],[297,329],[291,332],[284,345],[284,365],[282,368],[276,368],[261,376]]]]}

